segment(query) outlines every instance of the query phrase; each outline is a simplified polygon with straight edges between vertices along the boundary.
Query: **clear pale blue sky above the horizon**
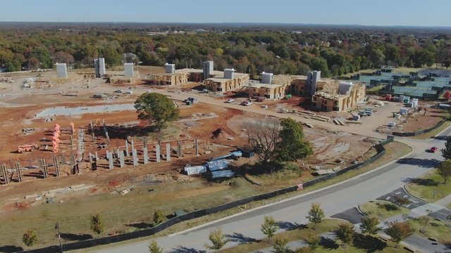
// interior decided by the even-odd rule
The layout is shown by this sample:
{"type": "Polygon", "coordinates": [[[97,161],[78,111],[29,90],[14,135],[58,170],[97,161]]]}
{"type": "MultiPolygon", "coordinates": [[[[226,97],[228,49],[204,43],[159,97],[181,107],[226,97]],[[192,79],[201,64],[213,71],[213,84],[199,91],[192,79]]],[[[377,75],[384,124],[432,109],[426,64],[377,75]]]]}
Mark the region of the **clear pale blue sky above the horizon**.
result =
{"type": "Polygon", "coordinates": [[[0,21],[451,27],[451,0],[2,0],[0,21]]]}

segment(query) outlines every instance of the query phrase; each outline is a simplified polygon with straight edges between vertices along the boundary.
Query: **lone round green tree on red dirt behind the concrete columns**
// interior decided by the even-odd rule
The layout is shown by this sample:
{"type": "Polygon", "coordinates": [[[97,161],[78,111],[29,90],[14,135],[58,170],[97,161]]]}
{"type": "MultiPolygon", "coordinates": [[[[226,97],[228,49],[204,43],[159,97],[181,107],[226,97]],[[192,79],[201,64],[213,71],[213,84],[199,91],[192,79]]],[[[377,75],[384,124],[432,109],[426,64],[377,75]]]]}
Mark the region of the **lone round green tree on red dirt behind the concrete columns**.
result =
{"type": "Polygon", "coordinates": [[[156,131],[161,131],[168,122],[178,119],[180,113],[170,98],[159,93],[143,93],[135,101],[135,108],[138,119],[149,121],[156,131]]]}

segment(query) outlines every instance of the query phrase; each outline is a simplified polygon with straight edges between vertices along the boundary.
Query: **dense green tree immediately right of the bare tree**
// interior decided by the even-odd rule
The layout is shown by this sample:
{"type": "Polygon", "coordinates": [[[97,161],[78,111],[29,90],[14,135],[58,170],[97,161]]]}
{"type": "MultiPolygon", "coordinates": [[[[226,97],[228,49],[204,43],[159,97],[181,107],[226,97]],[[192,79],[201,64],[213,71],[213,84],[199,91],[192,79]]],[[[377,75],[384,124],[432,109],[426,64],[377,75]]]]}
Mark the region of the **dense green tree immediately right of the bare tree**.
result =
{"type": "Polygon", "coordinates": [[[294,119],[282,119],[282,129],[277,143],[277,159],[283,162],[296,161],[313,154],[313,150],[304,140],[304,129],[294,119]]]}

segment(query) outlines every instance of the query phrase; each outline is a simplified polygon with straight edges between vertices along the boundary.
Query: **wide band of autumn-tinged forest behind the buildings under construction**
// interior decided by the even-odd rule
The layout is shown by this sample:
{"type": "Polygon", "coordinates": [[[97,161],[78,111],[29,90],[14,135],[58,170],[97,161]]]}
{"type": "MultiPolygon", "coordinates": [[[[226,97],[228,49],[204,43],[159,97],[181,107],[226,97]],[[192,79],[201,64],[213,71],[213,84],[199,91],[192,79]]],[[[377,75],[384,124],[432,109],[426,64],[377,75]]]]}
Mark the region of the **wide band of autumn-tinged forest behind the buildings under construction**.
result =
{"type": "Polygon", "coordinates": [[[409,34],[390,30],[232,30],[232,32],[168,33],[151,35],[144,29],[4,30],[0,34],[0,67],[6,71],[51,68],[68,63],[92,67],[104,57],[120,65],[123,53],[134,53],[141,65],[175,63],[177,68],[202,67],[214,60],[219,70],[235,67],[251,75],[307,74],[323,77],[372,69],[381,65],[405,67],[451,65],[449,34],[409,34]]]}

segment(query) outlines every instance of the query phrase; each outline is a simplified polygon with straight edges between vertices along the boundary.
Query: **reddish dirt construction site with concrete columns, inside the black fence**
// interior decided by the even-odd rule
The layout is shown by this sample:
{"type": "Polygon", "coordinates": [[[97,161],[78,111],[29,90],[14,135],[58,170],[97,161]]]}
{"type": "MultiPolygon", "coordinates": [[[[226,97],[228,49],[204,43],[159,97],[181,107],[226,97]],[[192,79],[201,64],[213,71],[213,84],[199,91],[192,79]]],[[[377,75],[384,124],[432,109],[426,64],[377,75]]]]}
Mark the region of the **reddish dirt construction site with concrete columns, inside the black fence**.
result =
{"type": "MultiPolygon", "coordinates": [[[[359,131],[363,126],[362,133],[372,131],[381,118],[390,120],[385,117],[398,110],[393,102],[380,105],[371,100],[362,107],[378,105],[374,111],[380,112],[371,116],[374,119],[349,123],[354,119],[348,119],[348,111],[314,111],[303,106],[306,98],[282,99],[292,89],[287,85],[299,78],[286,76],[254,83],[259,89],[277,88],[278,92],[245,107],[240,103],[253,96],[192,90],[201,86],[195,74],[189,74],[192,79],[186,77],[186,82],[185,77],[180,77],[184,82],[174,79],[175,84],[168,86],[168,81],[156,78],[172,72],[171,67],[126,65],[104,71],[100,63],[99,71],[63,67],[0,76],[0,220],[17,228],[0,232],[0,238],[20,245],[21,233],[30,222],[37,224],[42,235],[53,236],[51,225],[44,228],[44,223],[58,219],[72,229],[64,241],[84,240],[89,238],[87,216],[94,212],[104,214],[109,234],[123,233],[140,228],[133,224],[148,220],[156,207],[166,214],[188,212],[306,181],[371,157],[376,152],[373,145],[380,140],[346,128],[359,131]],[[154,81],[149,84],[149,80],[154,81]],[[160,135],[150,131],[148,122],[137,119],[133,103],[146,92],[170,96],[180,108],[179,119],[160,135]],[[187,103],[187,98],[193,99],[187,103]],[[229,98],[234,101],[226,103],[229,98]],[[246,124],[278,117],[292,117],[304,124],[314,155],[296,163],[302,173],[280,181],[259,176],[260,186],[234,178],[241,167],[257,162],[256,156],[245,154],[246,124]],[[201,175],[204,171],[187,175],[191,173],[186,168],[217,160],[227,160],[228,169],[220,169],[223,174],[210,168],[208,175],[201,175]],[[231,174],[224,176],[226,171],[231,174]],[[215,175],[221,180],[214,180],[215,175]]],[[[249,86],[248,77],[223,82],[242,78],[232,70],[225,72],[214,72],[220,77],[209,74],[207,79],[211,85],[230,83],[241,91],[242,86],[249,86]]],[[[265,96],[261,92],[258,96],[265,96]]],[[[343,96],[350,95],[345,92],[343,96]]],[[[361,108],[351,109],[357,114],[361,108]]],[[[39,245],[52,240],[42,239],[39,245]]]]}

